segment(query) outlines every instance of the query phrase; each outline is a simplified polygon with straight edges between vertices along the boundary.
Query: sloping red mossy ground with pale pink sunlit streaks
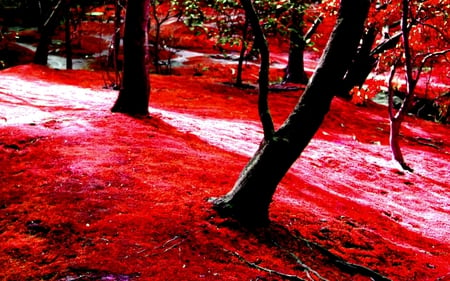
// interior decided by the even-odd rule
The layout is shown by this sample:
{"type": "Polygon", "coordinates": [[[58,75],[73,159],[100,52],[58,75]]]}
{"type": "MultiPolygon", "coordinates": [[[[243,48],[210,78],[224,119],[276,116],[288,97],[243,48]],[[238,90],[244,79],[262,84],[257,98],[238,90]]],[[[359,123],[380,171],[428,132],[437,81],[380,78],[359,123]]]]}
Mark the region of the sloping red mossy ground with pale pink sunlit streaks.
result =
{"type": "MultiPolygon", "coordinates": [[[[152,76],[152,118],[133,119],[102,73],[0,72],[0,279],[450,280],[448,126],[407,119],[405,173],[386,109],[336,99],[273,223],[246,230],[206,199],[261,139],[257,96],[208,74],[152,76]]],[[[298,95],[270,96],[277,124],[298,95]]]]}

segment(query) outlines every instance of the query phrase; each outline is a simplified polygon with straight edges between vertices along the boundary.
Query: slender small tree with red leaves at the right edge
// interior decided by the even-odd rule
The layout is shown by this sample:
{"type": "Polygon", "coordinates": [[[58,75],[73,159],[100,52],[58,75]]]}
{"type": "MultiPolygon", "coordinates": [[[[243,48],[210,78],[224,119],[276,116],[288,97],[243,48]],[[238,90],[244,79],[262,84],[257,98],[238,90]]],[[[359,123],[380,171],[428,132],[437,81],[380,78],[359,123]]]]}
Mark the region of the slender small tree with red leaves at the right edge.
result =
{"type": "MultiPolygon", "coordinates": [[[[432,65],[433,60],[437,57],[444,57],[446,54],[450,53],[450,37],[447,37],[447,30],[441,30],[441,26],[436,26],[436,21],[430,20],[430,18],[439,18],[439,16],[448,17],[448,12],[450,12],[450,6],[447,5],[434,5],[434,6],[422,6],[422,3],[417,5],[413,9],[413,1],[402,0],[402,17],[401,17],[401,34],[402,34],[402,46],[403,52],[402,56],[397,57],[396,61],[393,63],[391,68],[391,73],[388,80],[389,89],[389,120],[390,120],[390,136],[389,143],[392,152],[392,158],[397,161],[401,167],[408,171],[413,171],[413,169],[405,162],[403,154],[400,149],[400,128],[401,124],[408,113],[409,107],[415,96],[415,90],[417,83],[421,77],[422,72],[426,67],[432,65]],[[429,13],[433,11],[433,16],[431,17],[429,13]],[[443,15],[441,13],[444,13],[443,15]],[[441,15],[439,15],[441,14],[441,15]],[[425,18],[421,18],[425,16],[425,18]],[[431,21],[431,23],[430,23],[431,21]],[[426,47],[423,50],[423,46],[420,46],[422,42],[414,42],[417,37],[413,37],[411,33],[417,33],[420,30],[420,37],[429,36],[431,38],[431,33],[434,33],[438,38],[441,37],[442,42],[434,42],[433,46],[426,47]],[[428,33],[428,35],[426,35],[428,33]],[[443,44],[444,43],[444,44],[443,44]],[[420,47],[419,47],[420,46],[420,47]],[[447,47],[446,49],[439,49],[442,47],[447,47]],[[420,51],[418,51],[420,50],[420,51]],[[403,62],[402,62],[403,58],[403,62]],[[404,65],[405,69],[405,82],[406,87],[404,89],[404,100],[403,104],[399,110],[395,111],[394,108],[394,85],[393,78],[396,73],[398,66],[404,65]]],[[[436,3],[439,4],[439,3],[436,3]]],[[[442,4],[442,3],[441,3],[442,4]]],[[[439,41],[439,40],[438,40],[439,41]]],[[[448,60],[445,60],[448,62],[448,60]]],[[[435,61],[436,62],[436,61],[435,61]]]]}

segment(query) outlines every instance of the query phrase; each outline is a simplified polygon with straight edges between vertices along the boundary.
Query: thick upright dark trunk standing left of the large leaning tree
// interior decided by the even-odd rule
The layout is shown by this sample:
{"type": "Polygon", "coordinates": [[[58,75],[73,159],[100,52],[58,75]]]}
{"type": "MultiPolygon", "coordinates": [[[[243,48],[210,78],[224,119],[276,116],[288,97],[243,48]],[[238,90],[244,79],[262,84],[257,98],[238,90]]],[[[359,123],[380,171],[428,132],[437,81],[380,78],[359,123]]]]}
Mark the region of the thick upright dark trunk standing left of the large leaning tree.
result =
{"type": "Polygon", "coordinates": [[[147,27],[150,0],[128,1],[125,16],[122,87],[113,112],[148,115],[150,80],[147,64],[147,27]]]}

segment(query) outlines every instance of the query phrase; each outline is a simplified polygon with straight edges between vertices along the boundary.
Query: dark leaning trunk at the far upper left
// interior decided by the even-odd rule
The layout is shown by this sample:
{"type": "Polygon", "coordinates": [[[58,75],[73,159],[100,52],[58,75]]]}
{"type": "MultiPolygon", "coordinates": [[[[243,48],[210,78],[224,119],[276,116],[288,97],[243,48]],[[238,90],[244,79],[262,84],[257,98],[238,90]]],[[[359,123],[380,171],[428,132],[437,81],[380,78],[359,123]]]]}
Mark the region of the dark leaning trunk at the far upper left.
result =
{"type": "Polygon", "coordinates": [[[39,43],[34,54],[33,62],[40,65],[47,65],[48,50],[51,43],[51,36],[54,33],[59,21],[64,16],[64,10],[67,0],[59,0],[53,7],[50,15],[40,28],[39,43]]]}

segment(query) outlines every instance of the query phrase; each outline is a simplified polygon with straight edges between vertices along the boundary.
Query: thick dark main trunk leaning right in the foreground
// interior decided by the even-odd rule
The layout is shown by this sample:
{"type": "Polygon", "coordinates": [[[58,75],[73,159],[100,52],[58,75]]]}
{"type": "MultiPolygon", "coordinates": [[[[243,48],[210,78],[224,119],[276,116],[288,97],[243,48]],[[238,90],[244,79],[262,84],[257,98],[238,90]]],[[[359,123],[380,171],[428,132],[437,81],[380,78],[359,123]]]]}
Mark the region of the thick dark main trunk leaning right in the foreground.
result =
{"type": "Polygon", "coordinates": [[[338,21],[304,94],[281,128],[262,141],[233,189],[212,199],[219,213],[247,224],[268,222],[277,185],[319,129],[350,67],[369,6],[370,0],[341,1],[338,21]]]}

